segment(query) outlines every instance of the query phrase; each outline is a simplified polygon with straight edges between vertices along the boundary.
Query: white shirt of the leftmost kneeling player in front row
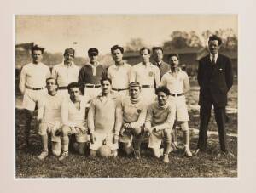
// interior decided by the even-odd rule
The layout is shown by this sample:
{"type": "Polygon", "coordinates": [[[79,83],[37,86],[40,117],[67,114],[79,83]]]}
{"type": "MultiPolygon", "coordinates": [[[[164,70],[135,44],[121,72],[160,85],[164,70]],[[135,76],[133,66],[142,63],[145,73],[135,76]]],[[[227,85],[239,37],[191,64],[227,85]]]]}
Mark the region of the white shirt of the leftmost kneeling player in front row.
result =
{"type": "Polygon", "coordinates": [[[43,122],[61,121],[61,104],[63,101],[62,94],[54,96],[45,94],[38,100],[38,120],[43,119],[43,122]]]}

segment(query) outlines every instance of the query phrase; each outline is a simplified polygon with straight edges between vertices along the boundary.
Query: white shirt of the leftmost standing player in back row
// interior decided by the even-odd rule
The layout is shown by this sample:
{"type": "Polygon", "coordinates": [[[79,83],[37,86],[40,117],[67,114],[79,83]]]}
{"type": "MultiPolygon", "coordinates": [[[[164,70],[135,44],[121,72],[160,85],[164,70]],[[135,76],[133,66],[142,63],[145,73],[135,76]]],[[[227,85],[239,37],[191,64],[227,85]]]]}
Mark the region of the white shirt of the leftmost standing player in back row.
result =
{"type": "Polygon", "coordinates": [[[43,63],[24,65],[20,72],[20,91],[25,92],[26,86],[44,88],[46,78],[50,77],[49,66],[43,63]]]}

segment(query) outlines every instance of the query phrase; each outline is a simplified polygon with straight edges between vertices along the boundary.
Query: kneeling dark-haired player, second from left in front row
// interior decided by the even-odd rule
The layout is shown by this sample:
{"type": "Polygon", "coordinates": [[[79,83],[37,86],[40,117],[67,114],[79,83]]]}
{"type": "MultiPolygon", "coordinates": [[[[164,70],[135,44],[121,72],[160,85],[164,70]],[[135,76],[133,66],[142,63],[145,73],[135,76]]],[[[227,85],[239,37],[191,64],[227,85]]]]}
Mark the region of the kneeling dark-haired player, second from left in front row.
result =
{"type": "Polygon", "coordinates": [[[85,154],[87,142],[86,126],[86,104],[88,99],[80,95],[79,83],[71,82],[67,86],[69,98],[61,105],[61,118],[63,126],[61,128],[62,155],[59,160],[64,160],[68,156],[68,135],[75,134],[80,155],[85,154]],[[84,99],[85,98],[85,99],[84,99]]]}

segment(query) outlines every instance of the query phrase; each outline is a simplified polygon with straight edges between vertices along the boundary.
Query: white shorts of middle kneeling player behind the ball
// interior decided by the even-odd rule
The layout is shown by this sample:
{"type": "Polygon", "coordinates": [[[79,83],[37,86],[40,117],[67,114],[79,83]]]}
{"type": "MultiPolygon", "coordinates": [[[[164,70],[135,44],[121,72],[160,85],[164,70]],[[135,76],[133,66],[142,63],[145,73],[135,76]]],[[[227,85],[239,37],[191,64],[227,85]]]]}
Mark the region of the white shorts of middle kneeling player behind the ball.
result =
{"type": "Polygon", "coordinates": [[[91,144],[90,142],[90,150],[98,150],[102,145],[104,140],[106,139],[106,145],[109,145],[111,150],[118,150],[119,143],[113,144],[113,136],[114,133],[94,133],[95,134],[95,142],[91,144]]]}

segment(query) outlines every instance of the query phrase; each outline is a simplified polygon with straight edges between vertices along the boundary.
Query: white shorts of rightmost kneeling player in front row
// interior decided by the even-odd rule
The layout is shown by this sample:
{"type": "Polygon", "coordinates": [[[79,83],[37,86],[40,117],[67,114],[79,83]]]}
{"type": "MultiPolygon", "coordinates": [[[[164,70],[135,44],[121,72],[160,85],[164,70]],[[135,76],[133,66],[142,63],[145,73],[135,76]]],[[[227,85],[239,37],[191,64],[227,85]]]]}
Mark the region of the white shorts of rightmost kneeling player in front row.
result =
{"type": "MultiPolygon", "coordinates": [[[[166,129],[166,131],[169,135],[169,138],[171,139],[172,130],[166,129]]],[[[148,139],[148,147],[153,149],[159,149],[163,139],[166,139],[164,130],[152,132],[148,139]]]]}

